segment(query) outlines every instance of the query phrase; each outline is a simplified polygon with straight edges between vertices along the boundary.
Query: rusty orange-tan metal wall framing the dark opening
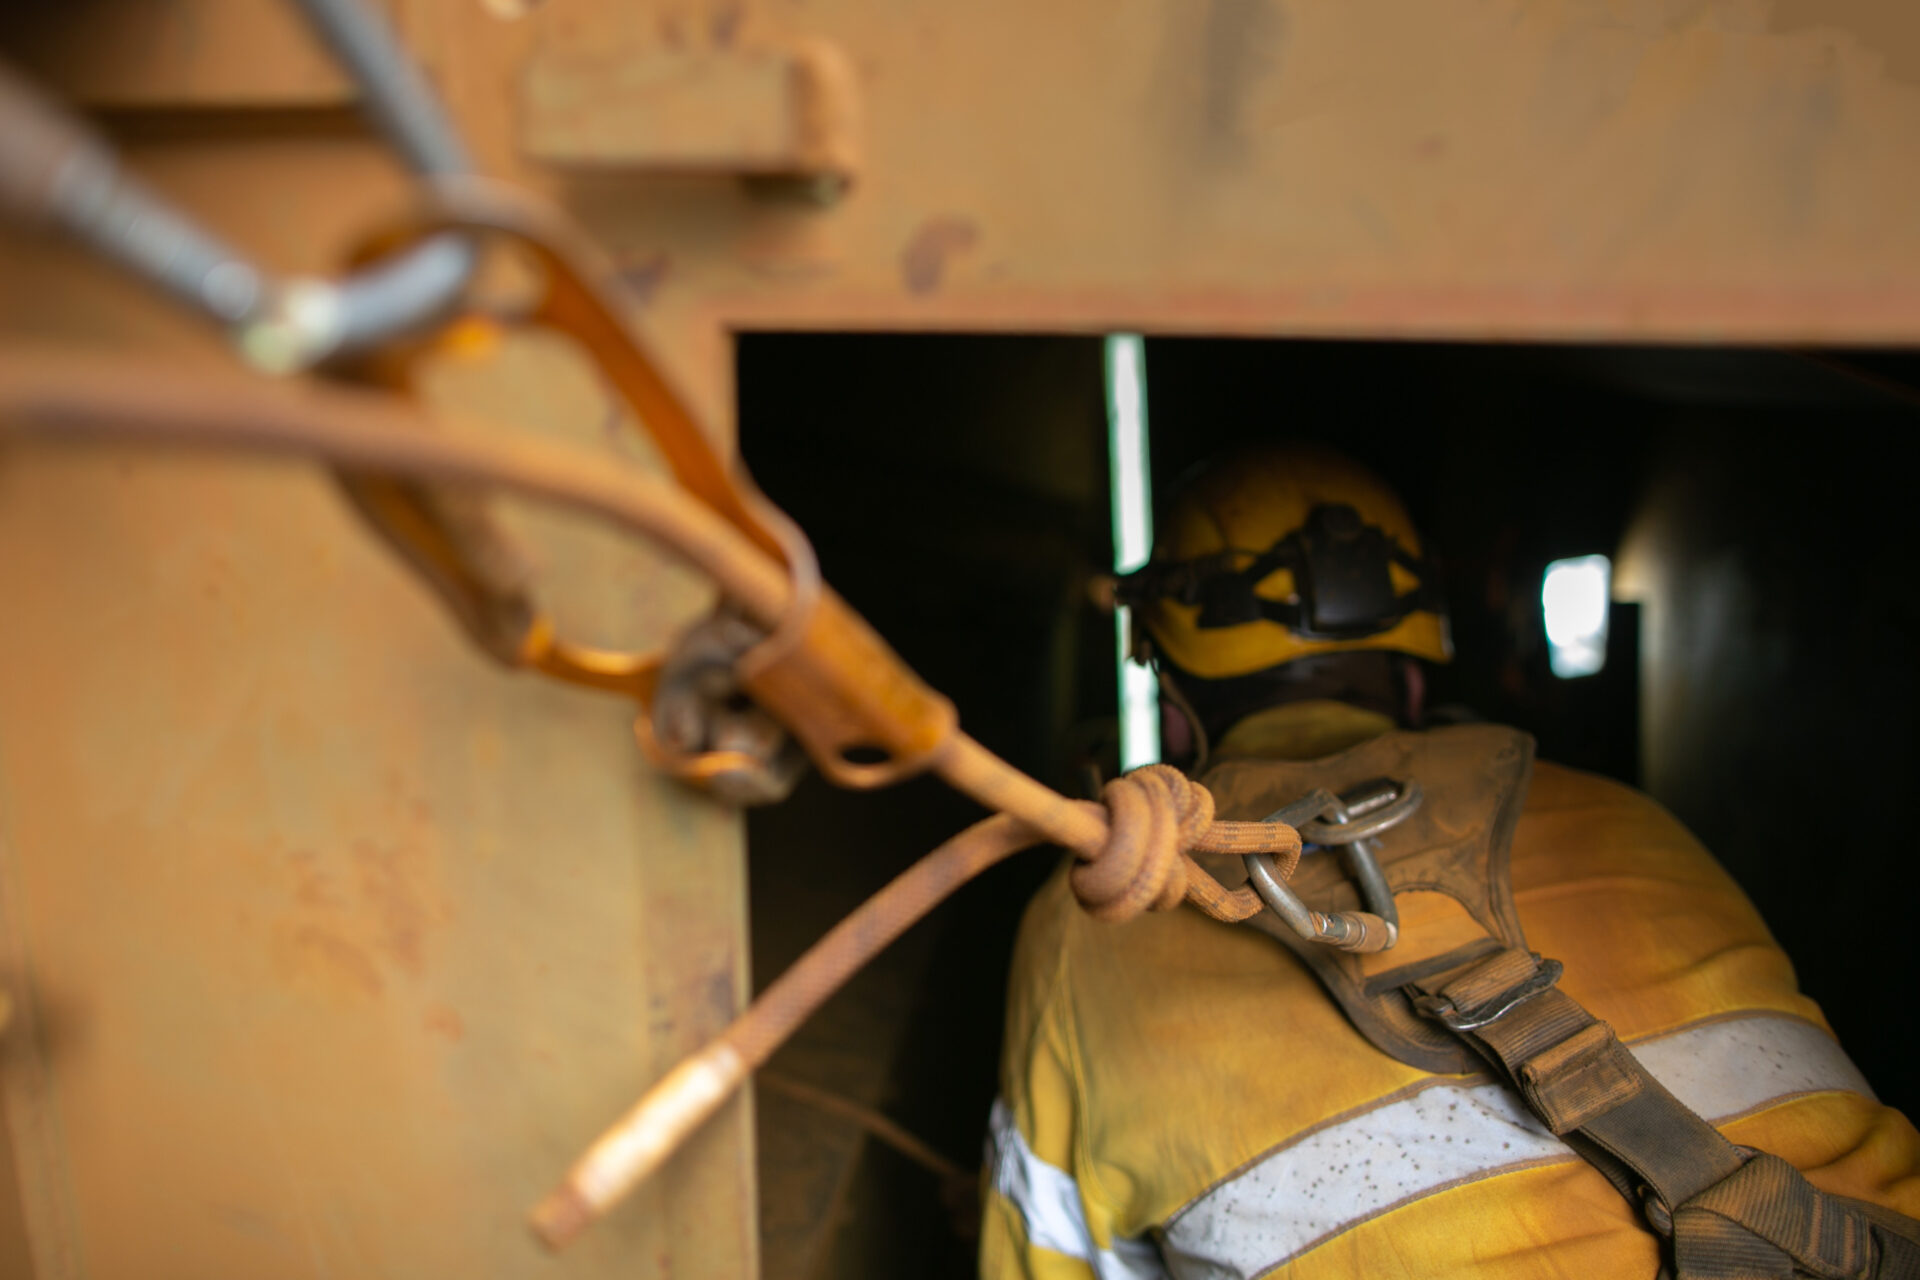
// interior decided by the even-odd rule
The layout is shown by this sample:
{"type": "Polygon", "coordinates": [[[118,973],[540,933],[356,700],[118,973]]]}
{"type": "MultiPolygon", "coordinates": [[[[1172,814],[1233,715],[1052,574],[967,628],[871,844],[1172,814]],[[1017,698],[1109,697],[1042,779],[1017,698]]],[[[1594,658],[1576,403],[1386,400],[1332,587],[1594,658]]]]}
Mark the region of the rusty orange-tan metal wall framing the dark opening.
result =
{"type": "MultiPolygon", "coordinates": [[[[1920,338],[1907,0],[386,8],[482,167],[612,249],[722,434],[741,328],[1920,338]]],[[[13,6],[0,44],[276,267],[403,194],[263,0],[13,6]]],[[[0,236],[27,334],[223,359],[0,236]]],[[[603,422],[549,355],[486,376],[447,393],[603,422]]],[[[599,626],[697,604],[538,532],[599,626]]],[[[549,1267],[526,1203],[745,984],[739,825],[647,775],[626,714],[484,666],[311,472],[0,453],[35,1274],[549,1267]]],[[[745,1121],[559,1270],[749,1274],[745,1121]]]]}

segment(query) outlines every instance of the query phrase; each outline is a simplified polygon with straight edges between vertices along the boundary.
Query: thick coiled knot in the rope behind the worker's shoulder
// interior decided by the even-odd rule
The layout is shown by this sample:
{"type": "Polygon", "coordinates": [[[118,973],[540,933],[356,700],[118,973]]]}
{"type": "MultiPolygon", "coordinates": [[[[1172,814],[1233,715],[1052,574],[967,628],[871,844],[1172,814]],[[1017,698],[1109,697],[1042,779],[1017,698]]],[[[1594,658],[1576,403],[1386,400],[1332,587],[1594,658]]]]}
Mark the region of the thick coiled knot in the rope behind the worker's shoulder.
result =
{"type": "Polygon", "coordinates": [[[1073,867],[1073,896],[1094,919],[1165,912],[1187,896],[1185,852],[1213,825],[1213,793],[1167,764],[1112,779],[1102,791],[1108,837],[1073,867]]]}

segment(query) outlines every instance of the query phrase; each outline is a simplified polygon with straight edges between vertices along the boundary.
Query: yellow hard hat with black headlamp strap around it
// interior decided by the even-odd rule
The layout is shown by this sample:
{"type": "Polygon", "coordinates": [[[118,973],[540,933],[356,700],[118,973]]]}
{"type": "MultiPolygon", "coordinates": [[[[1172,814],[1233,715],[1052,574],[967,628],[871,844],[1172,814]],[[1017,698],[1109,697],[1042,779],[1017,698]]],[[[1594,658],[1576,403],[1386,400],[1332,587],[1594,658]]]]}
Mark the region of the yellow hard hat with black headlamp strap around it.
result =
{"type": "Polygon", "coordinates": [[[1173,495],[1154,558],[1119,581],[1152,651],[1202,679],[1323,652],[1386,649],[1448,662],[1432,566],[1386,484],[1302,443],[1208,462],[1173,495]]]}

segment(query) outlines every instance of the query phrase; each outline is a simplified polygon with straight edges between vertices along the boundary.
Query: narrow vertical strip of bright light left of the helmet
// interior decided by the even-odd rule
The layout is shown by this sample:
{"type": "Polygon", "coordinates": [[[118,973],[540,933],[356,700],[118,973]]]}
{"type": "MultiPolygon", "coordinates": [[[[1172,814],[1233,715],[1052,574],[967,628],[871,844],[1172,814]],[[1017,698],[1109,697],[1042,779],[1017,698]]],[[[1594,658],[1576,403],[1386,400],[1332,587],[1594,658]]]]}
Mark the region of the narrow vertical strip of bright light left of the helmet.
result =
{"type": "MultiPolygon", "coordinates": [[[[1146,461],[1146,349],[1139,334],[1106,340],[1108,468],[1114,482],[1114,572],[1129,574],[1154,551],[1154,495],[1146,461]]],[[[1119,768],[1160,760],[1160,685],[1127,656],[1127,610],[1114,610],[1119,649],[1119,768]]]]}

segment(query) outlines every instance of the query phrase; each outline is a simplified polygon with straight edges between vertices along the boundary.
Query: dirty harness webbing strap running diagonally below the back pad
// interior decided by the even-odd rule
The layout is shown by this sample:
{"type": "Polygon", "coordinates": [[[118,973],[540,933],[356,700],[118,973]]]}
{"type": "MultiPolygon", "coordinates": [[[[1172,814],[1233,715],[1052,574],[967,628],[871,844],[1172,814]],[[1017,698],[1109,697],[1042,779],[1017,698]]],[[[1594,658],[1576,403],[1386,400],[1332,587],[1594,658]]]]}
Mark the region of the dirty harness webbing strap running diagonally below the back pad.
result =
{"type": "Polygon", "coordinates": [[[1503,948],[1407,994],[1672,1240],[1663,1274],[1920,1278],[1920,1222],[1828,1196],[1786,1161],[1736,1148],[1561,992],[1559,973],[1559,961],[1503,948]]]}

